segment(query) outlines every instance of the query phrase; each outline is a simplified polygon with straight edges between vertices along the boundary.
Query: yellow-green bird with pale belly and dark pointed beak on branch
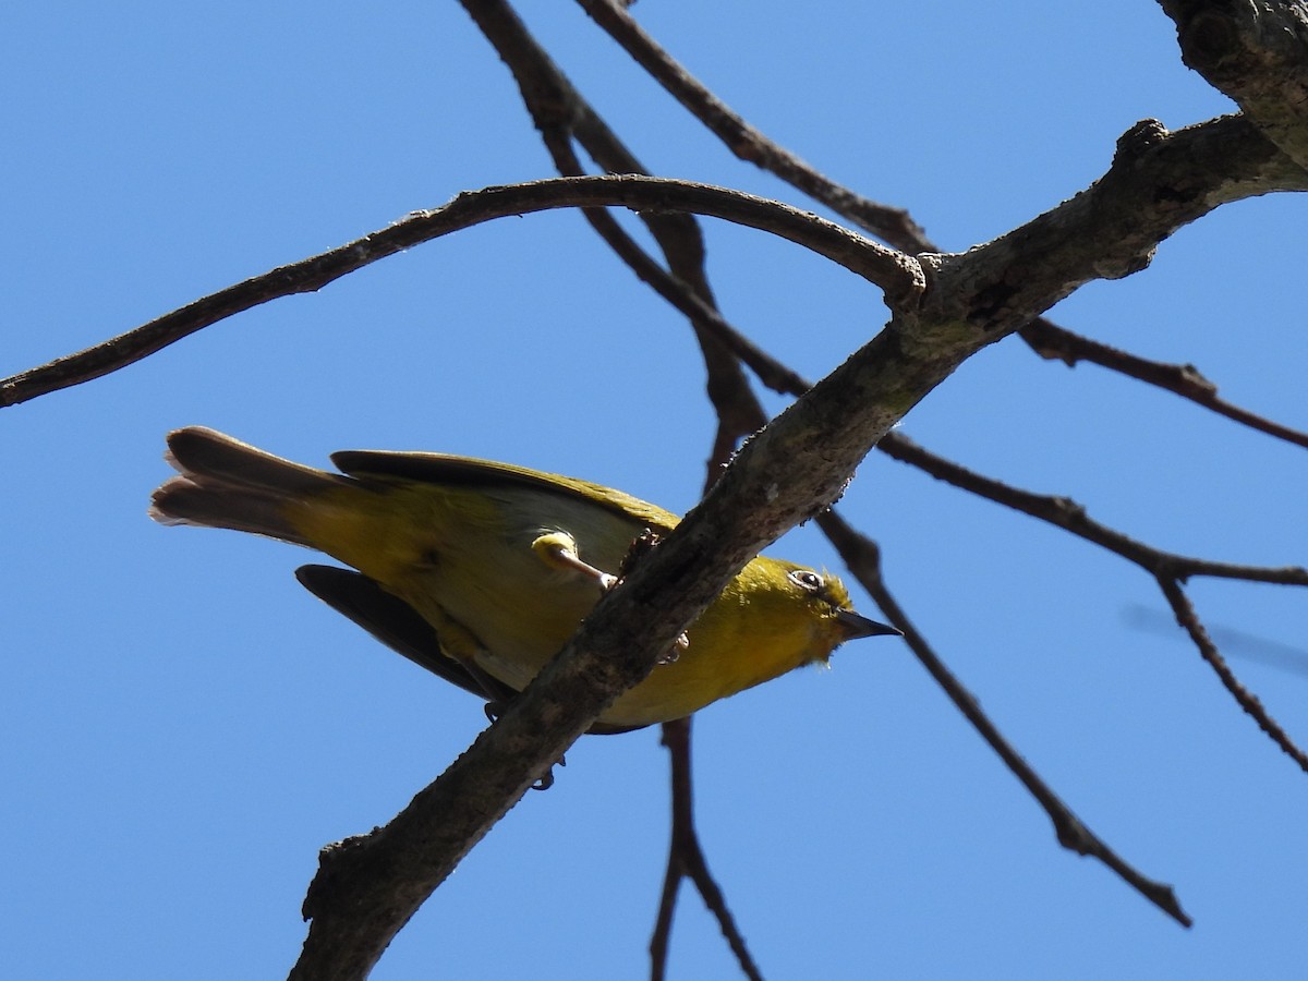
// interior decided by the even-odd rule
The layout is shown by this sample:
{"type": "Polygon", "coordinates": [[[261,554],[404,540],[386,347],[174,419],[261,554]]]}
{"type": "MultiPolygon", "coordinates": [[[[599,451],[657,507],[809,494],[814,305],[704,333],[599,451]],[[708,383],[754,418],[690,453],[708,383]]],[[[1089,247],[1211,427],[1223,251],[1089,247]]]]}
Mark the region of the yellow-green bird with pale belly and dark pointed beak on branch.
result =
{"type": "MultiPolygon", "coordinates": [[[[200,426],[167,446],[179,476],[154,492],[156,521],[268,535],[353,566],[296,574],[378,640],[493,701],[562,649],[642,531],[678,523],[620,490],[467,456],[353,450],[332,454],[341,473],[330,473],[200,426]]],[[[855,613],[835,576],[757,557],[593,731],[681,718],[825,662],[844,641],[897,633],[855,613]]]]}

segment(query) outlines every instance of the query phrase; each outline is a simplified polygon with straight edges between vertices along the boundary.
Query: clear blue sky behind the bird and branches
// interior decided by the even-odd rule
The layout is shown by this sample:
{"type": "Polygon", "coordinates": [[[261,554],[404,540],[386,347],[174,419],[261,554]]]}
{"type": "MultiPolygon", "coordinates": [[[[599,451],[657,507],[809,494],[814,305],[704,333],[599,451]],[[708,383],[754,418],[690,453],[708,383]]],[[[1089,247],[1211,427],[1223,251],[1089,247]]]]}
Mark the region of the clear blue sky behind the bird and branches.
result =
{"type": "MultiPolygon", "coordinates": [[[[1138,119],[1231,110],[1180,64],[1154,4],[882,7],[636,10],[752,123],[948,249],[1075,194],[1138,119]]],[[[807,205],[731,160],[572,7],[530,22],[655,173],[807,205]]],[[[460,190],[552,173],[454,3],[12,5],[0,44],[0,374],[460,190]]],[[[803,374],[880,327],[866,283],[706,228],[727,317],[803,374]]],[[[1193,362],[1305,428],[1305,255],[1308,203],[1244,201],[1053,317],[1193,362]]],[[[290,573],[306,553],[150,523],[166,430],[211,425],[319,464],[347,447],[466,453],[685,510],[713,432],[701,375],[689,331],[557,213],[415,249],[7,409],[4,973],[284,974],[318,849],[387,820],[483,725],[475,700],[303,593],[290,573]]],[[[903,428],[1164,548],[1308,562],[1301,450],[1016,340],[903,428]]],[[[841,508],[999,727],[1092,829],[1176,886],[1196,926],[1059,849],[908,650],[867,641],[696,721],[704,845],[764,973],[1300,977],[1308,777],[1180,632],[1137,625],[1141,608],[1165,624],[1148,578],[875,454],[841,508]]],[[[808,528],[774,552],[835,566],[808,528]]],[[[1192,595],[1210,625],[1258,638],[1231,662],[1308,742],[1305,596],[1210,581],[1192,595]],[[1286,647],[1288,663],[1257,657],[1286,647]]],[[[666,833],[657,732],[585,739],[374,977],[641,976],[666,833]]],[[[671,956],[672,977],[732,976],[689,893],[671,956]]]]}

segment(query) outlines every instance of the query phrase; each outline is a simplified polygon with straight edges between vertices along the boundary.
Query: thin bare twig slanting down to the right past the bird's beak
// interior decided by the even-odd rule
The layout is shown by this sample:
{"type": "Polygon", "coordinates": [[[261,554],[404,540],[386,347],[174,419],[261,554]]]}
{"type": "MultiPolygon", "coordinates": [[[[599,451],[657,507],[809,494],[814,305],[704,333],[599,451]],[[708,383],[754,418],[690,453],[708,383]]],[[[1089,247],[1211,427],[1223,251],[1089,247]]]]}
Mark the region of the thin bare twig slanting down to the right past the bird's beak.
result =
{"type": "Polygon", "coordinates": [[[976,696],[973,696],[959,679],[937,657],[935,651],[926,642],[926,638],[913,627],[903,607],[887,590],[880,572],[880,549],[865,535],[854,531],[835,510],[827,511],[818,518],[821,530],[836,545],[840,557],[850,572],[869,591],[876,606],[880,607],[886,617],[904,632],[904,640],[913,654],[930,672],[935,683],[940,685],[959,712],[981,734],[981,738],[990,746],[1012,774],[1022,781],[1027,791],[1036,798],[1040,806],[1053,821],[1058,844],[1071,849],[1080,855],[1097,858],[1124,882],[1131,886],[1144,899],[1156,905],[1181,926],[1190,926],[1192,920],[1181,909],[1176,893],[1171,886],[1148,879],[1137,871],[1130,863],[1121,858],[1108,844],[1095,835],[1086,824],[1073,814],[1062,799],[1045,783],[1031,768],[1023,756],[1005,739],[998,727],[981,712],[976,696]]]}

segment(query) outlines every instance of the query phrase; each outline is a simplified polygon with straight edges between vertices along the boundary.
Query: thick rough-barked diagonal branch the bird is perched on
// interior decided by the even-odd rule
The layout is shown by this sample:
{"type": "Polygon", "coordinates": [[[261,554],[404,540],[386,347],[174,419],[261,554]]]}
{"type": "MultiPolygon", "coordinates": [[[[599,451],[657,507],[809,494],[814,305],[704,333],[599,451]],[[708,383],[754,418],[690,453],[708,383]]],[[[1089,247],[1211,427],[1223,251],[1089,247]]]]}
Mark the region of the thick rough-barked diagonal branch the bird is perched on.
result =
{"type": "MultiPolygon", "coordinates": [[[[557,719],[568,722],[560,722],[559,736],[543,740],[531,759],[517,761],[517,777],[502,781],[509,794],[484,810],[485,824],[475,827],[497,820],[557,757],[560,743],[583,731],[623,684],[634,684],[647,672],[746,561],[833,502],[869,449],[963,360],[1080,283],[1138,268],[1158,241],[1220,200],[1239,196],[1241,190],[1270,190],[1260,183],[1266,181],[1269,160],[1279,156],[1270,145],[1264,143],[1262,153],[1250,156],[1245,149],[1232,157],[1213,144],[1223,132],[1231,135],[1228,127],[1209,124],[1172,136],[1160,129],[1148,126],[1129,133],[1105,178],[1056,212],[965,256],[939,256],[942,279],[951,279],[952,289],[943,296],[929,293],[921,307],[903,305],[899,297],[900,307],[887,330],[744,445],[708,497],[600,602],[560,658],[528,688],[536,698],[552,695],[556,679],[577,678],[577,662],[587,666],[583,675],[611,681],[616,691],[585,700],[574,692],[570,704],[551,702],[557,706],[557,719]],[[1192,161],[1207,161],[1209,169],[1182,166],[1172,156],[1179,148],[1192,161]],[[1231,169],[1216,173],[1216,160],[1231,169]],[[1176,194],[1159,205],[1158,191],[1164,184],[1176,194]],[[1092,247],[1082,247],[1080,238],[1092,247]],[[1041,271],[1044,263],[1052,272],[1041,271]],[[599,664],[607,666],[603,672],[599,664]]],[[[517,710],[510,709],[501,723],[517,710]]],[[[473,746],[460,764],[475,768],[477,755],[473,746]]],[[[409,808],[421,814],[405,812],[405,821],[425,829],[413,832],[416,841],[439,841],[450,808],[464,806],[439,785],[424,791],[409,808]],[[433,799],[447,806],[433,806],[433,799]]],[[[463,827],[468,820],[460,816],[455,824],[463,827]]],[[[375,855],[375,865],[353,863],[349,880],[337,878],[341,888],[332,892],[332,901],[311,905],[315,929],[306,943],[306,959],[358,963],[358,934],[341,950],[340,931],[320,930],[317,922],[317,917],[343,922],[351,916],[369,923],[369,937],[361,939],[364,956],[375,957],[468,846],[459,842],[453,857],[429,855],[426,867],[441,874],[417,876],[420,882],[409,870],[396,870],[386,852],[375,855]],[[378,886],[388,875],[412,883],[404,903],[378,886]]]]}

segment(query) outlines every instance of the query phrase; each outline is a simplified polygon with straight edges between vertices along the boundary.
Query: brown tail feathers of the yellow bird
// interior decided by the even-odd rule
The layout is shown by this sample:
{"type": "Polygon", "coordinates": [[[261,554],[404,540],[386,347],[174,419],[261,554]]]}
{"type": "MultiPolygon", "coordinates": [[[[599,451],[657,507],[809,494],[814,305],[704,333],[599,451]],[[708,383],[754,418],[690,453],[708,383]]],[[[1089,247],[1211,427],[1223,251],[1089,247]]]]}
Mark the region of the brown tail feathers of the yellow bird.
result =
{"type": "Polygon", "coordinates": [[[169,433],[165,459],[178,476],[150,500],[164,525],[233,528],[313,547],[292,525],[286,505],[353,484],[303,467],[203,426],[169,433]]]}

